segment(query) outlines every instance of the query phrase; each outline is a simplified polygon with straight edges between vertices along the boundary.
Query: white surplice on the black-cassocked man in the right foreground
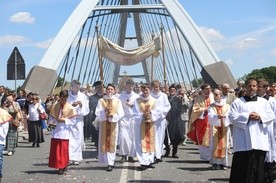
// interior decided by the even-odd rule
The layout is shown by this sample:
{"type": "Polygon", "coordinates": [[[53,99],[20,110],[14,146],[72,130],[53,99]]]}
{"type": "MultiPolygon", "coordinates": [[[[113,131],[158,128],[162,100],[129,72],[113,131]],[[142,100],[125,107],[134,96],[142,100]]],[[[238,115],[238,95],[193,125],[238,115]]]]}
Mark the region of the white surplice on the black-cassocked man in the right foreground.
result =
{"type": "Polygon", "coordinates": [[[233,151],[269,151],[268,125],[275,119],[269,102],[261,97],[246,102],[243,97],[234,100],[229,119],[233,124],[233,151]],[[260,120],[250,120],[249,114],[256,112],[260,120]]]}

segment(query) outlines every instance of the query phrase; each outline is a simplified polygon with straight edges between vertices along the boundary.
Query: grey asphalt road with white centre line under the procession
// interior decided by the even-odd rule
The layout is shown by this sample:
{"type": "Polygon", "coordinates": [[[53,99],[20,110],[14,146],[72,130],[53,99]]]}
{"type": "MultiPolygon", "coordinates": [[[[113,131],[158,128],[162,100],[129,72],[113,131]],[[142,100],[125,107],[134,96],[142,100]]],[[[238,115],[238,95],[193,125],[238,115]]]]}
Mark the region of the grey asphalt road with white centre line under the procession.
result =
{"type": "MultiPolygon", "coordinates": [[[[65,175],[57,175],[55,169],[48,167],[50,132],[45,131],[44,135],[45,143],[33,148],[27,143],[27,134],[20,133],[15,154],[4,156],[2,183],[229,182],[230,168],[212,170],[208,163],[199,159],[197,146],[191,142],[179,147],[179,159],[164,158],[154,169],[137,171],[138,162],[122,164],[117,156],[114,170],[106,172],[106,165],[97,162],[95,147],[87,141],[81,164],[70,165],[65,175]]],[[[232,156],[230,164],[231,161],[232,156]]]]}

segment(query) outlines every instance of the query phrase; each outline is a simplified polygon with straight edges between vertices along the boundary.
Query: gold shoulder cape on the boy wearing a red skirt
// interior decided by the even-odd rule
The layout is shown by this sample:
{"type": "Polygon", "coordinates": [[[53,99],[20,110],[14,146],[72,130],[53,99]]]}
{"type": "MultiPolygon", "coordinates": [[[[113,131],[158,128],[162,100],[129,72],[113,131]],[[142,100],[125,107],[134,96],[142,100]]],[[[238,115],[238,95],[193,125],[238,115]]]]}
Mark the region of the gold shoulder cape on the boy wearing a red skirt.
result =
{"type": "Polygon", "coordinates": [[[61,115],[67,119],[77,115],[77,111],[75,110],[75,108],[68,102],[66,102],[64,106],[61,106],[59,102],[56,103],[52,107],[50,115],[57,119],[60,115],[60,110],[61,110],[61,115]]]}

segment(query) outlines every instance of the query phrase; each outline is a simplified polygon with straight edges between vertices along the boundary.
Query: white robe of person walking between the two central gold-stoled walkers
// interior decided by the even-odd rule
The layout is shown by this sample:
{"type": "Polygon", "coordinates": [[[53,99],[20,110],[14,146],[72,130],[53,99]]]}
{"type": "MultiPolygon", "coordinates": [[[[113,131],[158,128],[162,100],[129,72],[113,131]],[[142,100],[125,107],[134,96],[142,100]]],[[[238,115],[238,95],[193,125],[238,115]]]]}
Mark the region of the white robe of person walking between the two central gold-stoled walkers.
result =
{"type": "Polygon", "coordinates": [[[124,109],[124,117],[119,122],[119,155],[135,157],[135,121],[133,119],[134,102],[140,96],[134,91],[126,93],[123,91],[119,96],[124,109]],[[128,105],[126,104],[128,103],[128,105]],[[130,105],[130,106],[129,106],[130,105]]]}

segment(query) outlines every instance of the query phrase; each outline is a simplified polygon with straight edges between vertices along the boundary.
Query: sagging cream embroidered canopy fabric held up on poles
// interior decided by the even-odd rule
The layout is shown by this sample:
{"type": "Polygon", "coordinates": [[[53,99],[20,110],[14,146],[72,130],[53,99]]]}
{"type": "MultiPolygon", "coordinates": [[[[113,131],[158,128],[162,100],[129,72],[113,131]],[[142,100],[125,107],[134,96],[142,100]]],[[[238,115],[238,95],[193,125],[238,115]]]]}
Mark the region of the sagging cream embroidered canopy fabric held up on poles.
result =
{"type": "Polygon", "coordinates": [[[150,56],[158,57],[161,50],[160,36],[133,50],[126,50],[103,36],[99,37],[99,44],[102,56],[120,65],[134,65],[150,56]]]}

